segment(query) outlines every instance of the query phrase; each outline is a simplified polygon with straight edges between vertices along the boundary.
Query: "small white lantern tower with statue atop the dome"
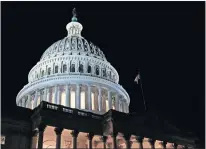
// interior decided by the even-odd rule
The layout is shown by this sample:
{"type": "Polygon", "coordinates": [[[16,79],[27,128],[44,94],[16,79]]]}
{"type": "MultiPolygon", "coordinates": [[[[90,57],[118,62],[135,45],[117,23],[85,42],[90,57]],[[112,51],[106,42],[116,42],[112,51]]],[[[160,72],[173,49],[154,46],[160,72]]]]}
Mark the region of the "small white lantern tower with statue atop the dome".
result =
{"type": "Polygon", "coordinates": [[[72,10],[72,14],[73,17],[71,22],[69,22],[66,26],[68,32],[67,36],[81,36],[83,26],[78,22],[76,8],[72,10]]]}

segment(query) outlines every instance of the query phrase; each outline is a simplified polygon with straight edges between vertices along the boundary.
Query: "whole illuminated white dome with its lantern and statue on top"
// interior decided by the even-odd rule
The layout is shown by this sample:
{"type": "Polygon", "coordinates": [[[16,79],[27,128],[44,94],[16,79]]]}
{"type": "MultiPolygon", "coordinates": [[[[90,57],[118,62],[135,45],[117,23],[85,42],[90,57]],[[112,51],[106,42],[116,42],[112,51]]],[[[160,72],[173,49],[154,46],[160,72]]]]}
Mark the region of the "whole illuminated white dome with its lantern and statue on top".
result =
{"type": "Polygon", "coordinates": [[[103,52],[81,36],[73,11],[67,37],[52,44],[30,70],[29,83],[17,95],[17,105],[34,109],[41,101],[98,114],[109,109],[128,113],[129,95],[103,52]]]}

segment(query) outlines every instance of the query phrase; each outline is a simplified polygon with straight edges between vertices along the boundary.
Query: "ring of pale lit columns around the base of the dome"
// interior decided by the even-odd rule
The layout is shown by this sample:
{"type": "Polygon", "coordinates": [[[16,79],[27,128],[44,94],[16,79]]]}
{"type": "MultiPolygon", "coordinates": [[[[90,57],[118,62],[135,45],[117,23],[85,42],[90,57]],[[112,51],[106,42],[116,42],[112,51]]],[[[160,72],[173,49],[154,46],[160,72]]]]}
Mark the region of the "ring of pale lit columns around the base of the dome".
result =
{"type": "Polygon", "coordinates": [[[62,104],[61,100],[65,100],[64,106],[67,107],[71,107],[71,89],[75,88],[75,107],[73,108],[77,108],[77,109],[81,109],[81,92],[85,92],[85,103],[87,102],[88,107],[87,110],[93,110],[93,101],[92,101],[92,94],[96,93],[97,94],[97,111],[107,111],[109,109],[115,109],[117,111],[121,111],[121,112],[125,112],[128,113],[128,103],[127,101],[122,98],[122,96],[120,96],[117,92],[111,91],[111,90],[107,90],[105,88],[101,88],[100,86],[91,86],[91,85],[84,85],[85,90],[82,91],[81,88],[82,86],[80,84],[72,84],[72,85],[64,85],[64,91],[65,91],[65,99],[62,99],[61,94],[61,86],[60,85],[56,85],[53,86],[52,91],[51,91],[51,87],[46,87],[43,90],[36,90],[35,93],[33,94],[33,98],[31,96],[31,94],[28,94],[27,97],[22,98],[22,100],[19,102],[19,106],[23,106],[23,107],[27,107],[27,108],[35,108],[38,106],[38,104],[40,103],[40,101],[44,100],[47,102],[52,102],[54,104],[62,104]],[[75,85],[75,86],[74,86],[75,85]],[[94,89],[95,88],[95,91],[94,89]],[[102,91],[103,90],[107,90],[106,93],[106,97],[103,96],[102,91]],[[40,92],[43,93],[40,94],[40,92]],[[53,94],[53,95],[52,95],[53,94]],[[54,100],[51,101],[51,95],[53,96],[54,100]],[[112,102],[112,96],[113,98],[115,98],[115,104],[113,104],[112,102]],[[103,98],[105,100],[105,105],[106,105],[106,109],[103,109],[103,98]],[[33,100],[33,102],[32,102],[33,100]],[[33,105],[32,105],[33,104],[33,105]]]}

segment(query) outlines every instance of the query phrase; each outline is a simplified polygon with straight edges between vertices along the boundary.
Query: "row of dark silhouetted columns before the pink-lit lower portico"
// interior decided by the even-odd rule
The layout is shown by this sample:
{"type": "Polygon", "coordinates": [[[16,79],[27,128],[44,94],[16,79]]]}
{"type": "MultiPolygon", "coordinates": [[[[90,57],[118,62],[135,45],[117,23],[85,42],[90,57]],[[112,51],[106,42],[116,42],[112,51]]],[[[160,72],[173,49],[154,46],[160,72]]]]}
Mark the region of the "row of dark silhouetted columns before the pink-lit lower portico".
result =
{"type": "MultiPolygon", "coordinates": [[[[39,127],[38,129],[38,134],[39,134],[39,137],[38,137],[38,145],[37,145],[37,148],[38,149],[42,149],[43,148],[43,139],[44,139],[44,130],[45,130],[45,127],[46,126],[41,126],[39,127]]],[[[56,149],[61,149],[61,134],[62,134],[62,131],[64,129],[62,128],[55,128],[54,131],[55,131],[55,134],[56,134],[56,149]]],[[[78,134],[79,132],[77,130],[72,130],[71,131],[71,136],[72,136],[72,147],[73,149],[77,149],[77,138],[78,138],[78,134]]],[[[35,134],[37,135],[37,133],[35,134]]],[[[119,146],[118,146],[118,143],[117,143],[117,136],[118,136],[118,133],[116,134],[113,134],[112,136],[112,139],[113,139],[113,146],[111,148],[113,149],[118,149],[119,146]]],[[[94,137],[94,134],[93,133],[88,133],[87,134],[87,139],[88,139],[88,148],[89,149],[92,149],[93,148],[93,144],[92,144],[92,139],[94,137]]],[[[102,136],[101,137],[101,140],[102,140],[102,143],[103,143],[103,148],[106,149],[107,148],[107,136],[102,136]]],[[[131,135],[130,134],[124,134],[123,135],[123,138],[125,140],[125,144],[126,144],[126,149],[131,149],[131,146],[132,146],[132,141],[131,141],[131,135]]],[[[136,136],[135,137],[135,140],[137,141],[138,143],[138,149],[144,149],[143,147],[143,140],[144,140],[144,137],[140,137],[140,136],[136,136]]],[[[155,141],[154,139],[149,139],[148,142],[150,144],[150,148],[151,149],[155,149],[155,141]]],[[[161,141],[161,148],[162,149],[166,149],[167,145],[167,142],[166,141],[161,141]]],[[[173,143],[173,146],[172,148],[173,149],[177,149],[177,144],[176,143],[173,143]]],[[[188,147],[185,145],[183,147],[184,149],[187,149],[188,147]]],[[[171,149],[171,147],[170,147],[171,149]]]]}

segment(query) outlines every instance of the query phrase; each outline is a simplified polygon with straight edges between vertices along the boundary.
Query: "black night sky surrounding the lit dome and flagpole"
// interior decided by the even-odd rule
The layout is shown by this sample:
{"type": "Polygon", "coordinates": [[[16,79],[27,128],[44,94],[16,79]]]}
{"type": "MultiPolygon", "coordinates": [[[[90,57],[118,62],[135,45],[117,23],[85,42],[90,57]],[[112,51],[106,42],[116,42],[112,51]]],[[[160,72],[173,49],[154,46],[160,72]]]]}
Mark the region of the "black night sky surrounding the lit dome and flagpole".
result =
{"type": "Polygon", "coordinates": [[[130,112],[143,110],[134,83],[140,68],[149,110],[204,136],[204,2],[2,2],[3,113],[15,114],[16,95],[30,69],[67,35],[73,7],[83,37],[118,71],[131,98],[130,112]]]}

